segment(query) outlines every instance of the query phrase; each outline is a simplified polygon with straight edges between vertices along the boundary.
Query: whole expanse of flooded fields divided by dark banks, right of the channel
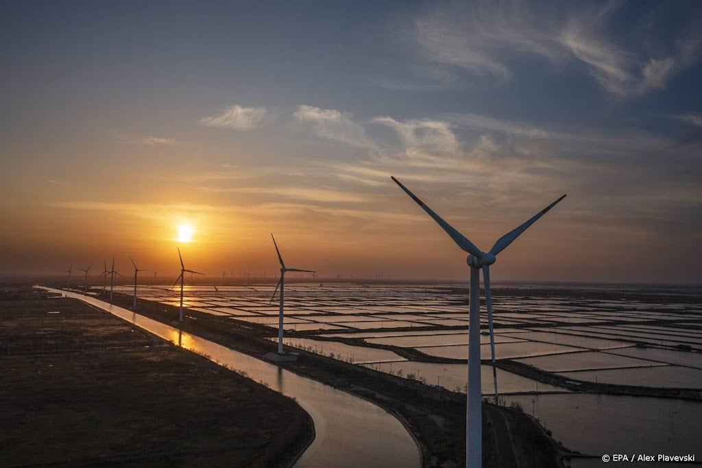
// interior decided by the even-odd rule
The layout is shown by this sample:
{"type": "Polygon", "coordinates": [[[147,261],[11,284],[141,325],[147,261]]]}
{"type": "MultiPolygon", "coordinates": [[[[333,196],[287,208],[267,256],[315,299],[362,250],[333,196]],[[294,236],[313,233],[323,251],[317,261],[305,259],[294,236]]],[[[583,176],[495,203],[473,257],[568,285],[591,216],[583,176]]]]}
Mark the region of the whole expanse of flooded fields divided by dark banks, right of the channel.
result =
{"type": "MultiPolygon", "coordinates": [[[[131,294],[131,287],[120,289],[131,294]]],[[[278,325],[273,289],[274,284],[191,286],[185,304],[273,331],[278,325]]],[[[168,287],[142,287],[139,294],[164,304],[178,300],[168,287]]],[[[572,382],[678,387],[702,397],[701,288],[505,285],[503,290],[494,286],[493,301],[498,360],[572,382]]],[[[286,284],[284,328],[288,346],[465,392],[466,365],[456,362],[468,357],[465,287],[291,282],[286,284]],[[356,340],[354,345],[329,341],[342,338],[356,340]],[[439,362],[404,358],[396,351],[418,351],[439,362]]],[[[482,358],[489,359],[484,310],[481,328],[482,358]]],[[[482,391],[489,397],[492,370],[482,368],[482,391]]],[[[501,398],[534,411],[555,438],[585,453],[649,447],[691,451],[691,434],[702,429],[700,401],[572,389],[498,370],[501,398]]]]}

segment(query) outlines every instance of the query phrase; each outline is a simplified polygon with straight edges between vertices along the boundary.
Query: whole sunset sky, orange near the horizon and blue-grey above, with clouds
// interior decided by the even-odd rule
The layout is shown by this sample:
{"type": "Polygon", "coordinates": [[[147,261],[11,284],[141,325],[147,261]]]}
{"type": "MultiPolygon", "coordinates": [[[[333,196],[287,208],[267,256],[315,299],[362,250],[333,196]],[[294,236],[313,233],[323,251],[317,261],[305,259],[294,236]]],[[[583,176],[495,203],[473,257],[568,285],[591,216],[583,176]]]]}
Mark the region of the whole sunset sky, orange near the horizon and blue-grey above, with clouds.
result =
{"type": "Polygon", "coordinates": [[[702,282],[698,1],[0,0],[0,278],[702,282]],[[178,239],[190,225],[191,242],[178,239]],[[81,273],[82,274],[82,273],[81,273]]]}

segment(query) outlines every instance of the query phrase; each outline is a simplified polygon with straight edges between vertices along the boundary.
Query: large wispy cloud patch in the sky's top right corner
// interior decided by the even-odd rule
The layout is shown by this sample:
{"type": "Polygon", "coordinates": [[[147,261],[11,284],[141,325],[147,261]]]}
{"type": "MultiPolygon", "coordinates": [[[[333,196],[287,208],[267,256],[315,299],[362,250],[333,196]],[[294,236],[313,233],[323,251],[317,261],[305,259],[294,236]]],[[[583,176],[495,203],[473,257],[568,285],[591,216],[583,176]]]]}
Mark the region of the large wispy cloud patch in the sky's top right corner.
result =
{"type": "Polygon", "coordinates": [[[622,1],[432,4],[414,19],[412,39],[423,60],[477,76],[510,79],[518,72],[515,59],[529,56],[559,65],[580,63],[602,88],[620,97],[665,89],[698,62],[702,39],[694,25],[668,32],[666,44],[646,49],[644,32],[631,26],[635,20],[627,22],[634,30],[630,34],[621,34],[621,22],[612,20],[622,8],[622,1]]]}

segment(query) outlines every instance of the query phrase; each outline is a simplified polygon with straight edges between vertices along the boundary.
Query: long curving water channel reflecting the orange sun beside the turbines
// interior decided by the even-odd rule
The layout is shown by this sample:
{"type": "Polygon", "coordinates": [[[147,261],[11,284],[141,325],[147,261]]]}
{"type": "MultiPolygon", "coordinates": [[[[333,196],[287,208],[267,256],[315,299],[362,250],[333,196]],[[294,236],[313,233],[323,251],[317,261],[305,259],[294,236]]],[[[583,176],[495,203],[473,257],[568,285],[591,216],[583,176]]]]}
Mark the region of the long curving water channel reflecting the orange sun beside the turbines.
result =
{"type": "Polygon", "coordinates": [[[296,398],[314,421],[316,437],[296,467],[420,467],[419,448],[402,423],[373,403],[283,370],[206,339],[180,332],[95,297],[49,287],[101,308],[190,351],[205,354],[220,365],[246,372],[256,382],[296,398]]]}

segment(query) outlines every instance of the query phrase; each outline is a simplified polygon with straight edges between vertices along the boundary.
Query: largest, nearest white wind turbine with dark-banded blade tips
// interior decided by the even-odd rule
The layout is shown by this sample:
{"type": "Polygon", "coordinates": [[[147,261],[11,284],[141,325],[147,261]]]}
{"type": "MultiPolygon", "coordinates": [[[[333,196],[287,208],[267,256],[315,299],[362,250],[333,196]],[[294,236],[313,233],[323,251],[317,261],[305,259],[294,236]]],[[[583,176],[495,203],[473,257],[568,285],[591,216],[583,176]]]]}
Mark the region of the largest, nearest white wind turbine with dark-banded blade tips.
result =
{"type": "Polygon", "coordinates": [[[489,252],[482,252],[480,249],[468,240],[458,230],[454,229],[449,223],[446,223],[441,216],[436,214],[427,205],[419,200],[416,195],[411,193],[408,188],[402,185],[397,178],[392,177],[392,181],[397,183],[399,188],[409,195],[431,218],[436,221],[448,234],[453,242],[456,242],[458,247],[464,252],[468,252],[468,266],[470,268],[470,323],[468,326],[468,386],[466,387],[468,399],[468,411],[465,415],[465,463],[467,467],[480,467],[482,465],[482,404],[481,404],[481,386],[480,386],[480,268],[483,271],[483,279],[485,285],[485,303],[488,312],[488,321],[490,327],[490,345],[492,351],[493,362],[493,377],[495,379],[495,393],[497,394],[497,378],[494,367],[495,363],[495,341],[492,327],[492,298],[490,294],[490,265],[496,261],[496,256],[508,247],[516,238],[524,233],[529,226],[534,224],[537,219],[541,218],[548,210],[555,206],[558,202],[565,198],[565,195],[559,197],[558,200],[548,205],[532,216],[527,222],[510,230],[495,242],[489,252]]]}

